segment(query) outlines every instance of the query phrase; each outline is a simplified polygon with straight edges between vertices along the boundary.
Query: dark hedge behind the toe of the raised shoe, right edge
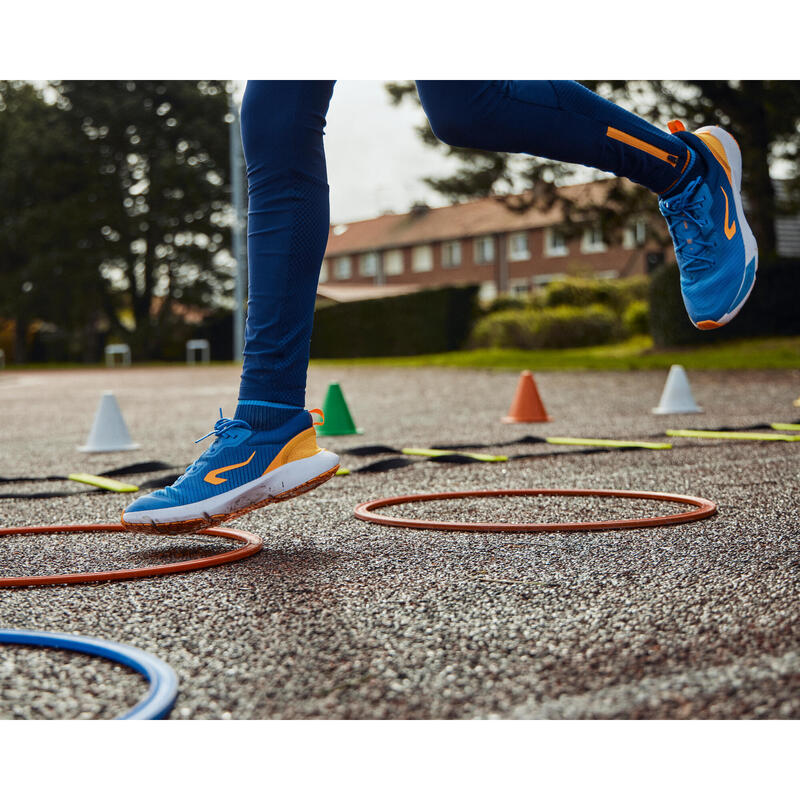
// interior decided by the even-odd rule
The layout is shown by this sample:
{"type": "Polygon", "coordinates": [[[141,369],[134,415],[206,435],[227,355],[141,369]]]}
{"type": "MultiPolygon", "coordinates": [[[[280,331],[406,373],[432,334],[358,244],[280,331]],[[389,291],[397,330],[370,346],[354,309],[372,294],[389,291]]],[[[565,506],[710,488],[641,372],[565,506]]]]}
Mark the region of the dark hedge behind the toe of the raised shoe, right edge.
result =
{"type": "Polygon", "coordinates": [[[800,334],[800,261],[759,264],[750,299],[723,328],[700,331],[686,315],[677,264],[664,264],[650,280],[650,333],[658,347],[710,344],[755,336],[800,334]]]}

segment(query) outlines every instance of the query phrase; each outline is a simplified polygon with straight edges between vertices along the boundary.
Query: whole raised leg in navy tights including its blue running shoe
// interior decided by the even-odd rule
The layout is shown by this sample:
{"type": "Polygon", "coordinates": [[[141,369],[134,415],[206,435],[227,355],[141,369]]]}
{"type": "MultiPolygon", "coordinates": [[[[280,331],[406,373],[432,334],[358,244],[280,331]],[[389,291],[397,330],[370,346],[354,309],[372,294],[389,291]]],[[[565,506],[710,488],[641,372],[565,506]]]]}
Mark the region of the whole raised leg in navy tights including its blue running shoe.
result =
{"type": "Polygon", "coordinates": [[[753,288],[758,247],[742,157],[717,126],[661,131],[573,81],[417,81],[434,133],[453,146],[529,153],[613,172],[660,195],[689,318],[726,325],[753,288]]]}

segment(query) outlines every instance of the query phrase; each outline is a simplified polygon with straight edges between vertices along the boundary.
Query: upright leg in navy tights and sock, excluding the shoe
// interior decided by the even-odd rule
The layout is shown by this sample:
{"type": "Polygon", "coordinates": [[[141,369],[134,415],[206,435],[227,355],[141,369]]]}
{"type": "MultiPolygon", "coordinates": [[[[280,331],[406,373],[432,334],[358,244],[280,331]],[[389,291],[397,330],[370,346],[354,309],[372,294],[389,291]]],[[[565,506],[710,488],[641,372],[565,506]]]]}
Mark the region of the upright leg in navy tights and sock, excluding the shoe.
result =
{"type": "Polygon", "coordinates": [[[322,136],[333,85],[249,81],[242,103],[249,297],[236,416],[253,427],[276,427],[305,404],[314,300],[328,241],[322,136]]]}

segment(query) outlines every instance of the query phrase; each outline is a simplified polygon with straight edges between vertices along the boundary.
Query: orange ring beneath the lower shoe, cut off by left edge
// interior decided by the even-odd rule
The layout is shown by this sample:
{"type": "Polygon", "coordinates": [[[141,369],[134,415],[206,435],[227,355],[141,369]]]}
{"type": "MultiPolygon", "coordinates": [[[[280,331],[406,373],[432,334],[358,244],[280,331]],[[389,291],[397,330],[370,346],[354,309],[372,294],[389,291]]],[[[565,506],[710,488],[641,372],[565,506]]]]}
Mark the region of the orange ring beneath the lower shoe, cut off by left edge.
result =
{"type": "MultiPolygon", "coordinates": [[[[19,534],[42,533],[120,533],[125,532],[122,525],[32,525],[24,528],[0,528],[0,535],[14,536],[19,534]]],[[[207,528],[197,531],[201,536],[221,536],[243,542],[225,553],[189,561],[176,561],[171,564],[159,564],[157,567],[137,567],[136,569],[113,569],[108,572],[75,572],[67,575],[24,575],[15,578],[0,578],[0,588],[20,586],[52,586],[60,583],[94,583],[95,581],[126,581],[134,578],[154,578],[158,575],[171,575],[175,572],[189,572],[194,569],[216,567],[219,564],[230,564],[243,558],[254,556],[263,547],[261,537],[247,531],[235,531],[230,528],[207,528]]]]}

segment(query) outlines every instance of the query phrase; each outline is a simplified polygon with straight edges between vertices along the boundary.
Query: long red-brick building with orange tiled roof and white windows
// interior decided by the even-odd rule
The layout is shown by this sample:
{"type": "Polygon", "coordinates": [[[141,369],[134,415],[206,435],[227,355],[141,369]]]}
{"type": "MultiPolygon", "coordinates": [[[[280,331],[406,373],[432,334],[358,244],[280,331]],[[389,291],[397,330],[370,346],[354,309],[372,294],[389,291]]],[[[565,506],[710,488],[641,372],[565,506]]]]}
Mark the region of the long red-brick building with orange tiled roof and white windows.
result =
{"type": "MultiPolygon", "coordinates": [[[[609,181],[565,187],[573,201],[599,202],[609,181]]],[[[664,247],[648,231],[666,225],[659,216],[637,218],[622,241],[608,244],[597,227],[567,239],[560,212],[517,212],[498,198],[444,208],[418,206],[406,214],[333,225],[320,275],[319,294],[334,300],[477,283],[481,297],[525,293],[571,274],[598,277],[643,274],[660,263],[664,247]]]]}

